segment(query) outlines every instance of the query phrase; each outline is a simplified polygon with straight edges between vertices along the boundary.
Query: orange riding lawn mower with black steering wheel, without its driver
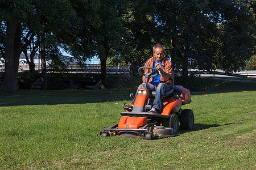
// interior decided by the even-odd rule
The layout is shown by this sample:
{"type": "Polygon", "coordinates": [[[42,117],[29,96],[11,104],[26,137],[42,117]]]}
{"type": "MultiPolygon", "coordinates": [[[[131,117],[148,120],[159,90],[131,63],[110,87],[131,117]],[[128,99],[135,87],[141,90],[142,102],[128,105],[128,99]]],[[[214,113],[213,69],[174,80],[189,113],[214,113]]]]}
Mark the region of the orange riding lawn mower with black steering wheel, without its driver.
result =
{"type": "MultiPolygon", "coordinates": [[[[174,137],[183,130],[192,130],[194,126],[194,114],[191,109],[181,109],[182,105],[191,103],[190,92],[183,86],[174,85],[164,93],[161,113],[148,112],[152,108],[155,99],[155,91],[148,91],[147,83],[151,77],[158,76],[159,71],[152,67],[140,67],[139,73],[144,75],[146,82],[144,88],[138,89],[138,95],[132,108],[123,104],[124,112],[118,124],[109,128],[103,128],[101,137],[121,135],[125,137],[141,136],[146,140],[174,137]],[[151,73],[143,73],[143,69],[151,69],[151,73]]],[[[133,99],[133,95],[131,98],[133,99]]]]}

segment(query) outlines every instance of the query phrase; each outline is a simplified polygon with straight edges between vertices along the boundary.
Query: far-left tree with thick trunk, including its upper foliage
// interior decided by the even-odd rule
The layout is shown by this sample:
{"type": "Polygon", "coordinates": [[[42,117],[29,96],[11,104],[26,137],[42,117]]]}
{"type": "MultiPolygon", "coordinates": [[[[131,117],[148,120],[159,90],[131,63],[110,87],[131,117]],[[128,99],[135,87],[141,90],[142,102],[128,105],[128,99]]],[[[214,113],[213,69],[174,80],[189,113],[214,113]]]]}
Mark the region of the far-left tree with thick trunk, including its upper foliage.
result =
{"type": "Polygon", "coordinates": [[[21,22],[25,20],[26,14],[31,9],[27,0],[1,1],[0,18],[6,24],[3,46],[5,54],[5,74],[0,87],[1,92],[18,92],[18,67],[22,27],[21,22]]]}

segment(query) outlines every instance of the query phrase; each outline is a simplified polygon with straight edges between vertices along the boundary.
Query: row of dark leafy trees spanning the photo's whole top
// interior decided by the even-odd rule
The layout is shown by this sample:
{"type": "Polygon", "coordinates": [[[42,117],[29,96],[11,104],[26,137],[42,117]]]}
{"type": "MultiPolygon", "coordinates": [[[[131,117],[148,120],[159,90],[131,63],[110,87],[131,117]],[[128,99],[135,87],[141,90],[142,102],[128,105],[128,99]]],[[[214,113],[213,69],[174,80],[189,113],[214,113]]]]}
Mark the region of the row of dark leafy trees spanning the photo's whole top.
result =
{"type": "Polygon", "coordinates": [[[254,10],[252,0],[1,1],[1,91],[19,91],[19,54],[29,48],[32,56],[40,52],[44,89],[47,59],[52,67],[63,66],[60,47],[81,62],[100,58],[102,89],[108,58],[130,63],[137,73],[156,43],[164,45],[185,76],[189,67],[237,71],[255,55],[254,10]]]}

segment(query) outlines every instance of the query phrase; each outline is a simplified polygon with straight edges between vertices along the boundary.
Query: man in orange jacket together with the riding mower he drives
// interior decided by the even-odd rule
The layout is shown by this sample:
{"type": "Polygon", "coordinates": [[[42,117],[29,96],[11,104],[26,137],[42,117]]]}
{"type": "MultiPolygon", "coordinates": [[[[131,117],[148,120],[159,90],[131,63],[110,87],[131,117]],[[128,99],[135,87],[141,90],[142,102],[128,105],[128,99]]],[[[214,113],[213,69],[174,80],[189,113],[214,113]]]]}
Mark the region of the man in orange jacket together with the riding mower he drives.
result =
{"type": "Polygon", "coordinates": [[[191,103],[189,90],[174,85],[171,61],[163,57],[163,46],[156,44],[153,53],[138,70],[144,83],[138,87],[135,97],[131,95],[133,102],[123,104],[125,112],[121,112],[119,124],[103,128],[102,137],[110,134],[138,135],[148,140],[172,137],[179,131],[179,121],[182,129],[193,129],[193,112],[181,109],[181,105],[191,103]]]}

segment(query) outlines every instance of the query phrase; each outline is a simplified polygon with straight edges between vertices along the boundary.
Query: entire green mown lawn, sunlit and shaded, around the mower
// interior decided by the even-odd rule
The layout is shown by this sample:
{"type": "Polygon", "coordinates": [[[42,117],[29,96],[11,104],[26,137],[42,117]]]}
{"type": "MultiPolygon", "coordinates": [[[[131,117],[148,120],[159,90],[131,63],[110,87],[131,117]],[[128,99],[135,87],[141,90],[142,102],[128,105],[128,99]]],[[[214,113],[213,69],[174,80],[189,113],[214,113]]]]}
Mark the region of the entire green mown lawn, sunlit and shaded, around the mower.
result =
{"type": "Polygon", "coordinates": [[[100,137],[129,101],[117,88],[1,95],[0,169],[255,169],[256,83],[214,82],[183,107],[195,130],[154,141],[100,137]]]}

